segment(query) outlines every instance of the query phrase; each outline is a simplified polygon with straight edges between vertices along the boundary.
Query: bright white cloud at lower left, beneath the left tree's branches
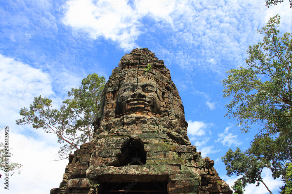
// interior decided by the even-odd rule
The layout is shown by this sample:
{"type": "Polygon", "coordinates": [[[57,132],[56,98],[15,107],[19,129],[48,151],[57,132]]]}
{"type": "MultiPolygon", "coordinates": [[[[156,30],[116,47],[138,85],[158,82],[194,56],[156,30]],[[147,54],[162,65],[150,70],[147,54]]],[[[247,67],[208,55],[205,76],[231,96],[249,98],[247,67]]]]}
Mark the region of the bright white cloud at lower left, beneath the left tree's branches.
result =
{"type": "MultiPolygon", "coordinates": [[[[10,125],[11,126],[11,125],[10,125]]],[[[10,127],[10,131],[15,131],[15,127],[10,127]]],[[[11,162],[22,164],[20,175],[17,172],[9,177],[10,193],[38,194],[49,192],[53,187],[59,187],[68,160],[50,161],[58,154],[57,139],[50,144],[48,135],[42,136],[43,141],[28,138],[14,132],[10,133],[11,162]]],[[[0,180],[3,185],[4,172],[1,171],[0,180]]],[[[1,188],[3,189],[3,188],[1,188]]]]}

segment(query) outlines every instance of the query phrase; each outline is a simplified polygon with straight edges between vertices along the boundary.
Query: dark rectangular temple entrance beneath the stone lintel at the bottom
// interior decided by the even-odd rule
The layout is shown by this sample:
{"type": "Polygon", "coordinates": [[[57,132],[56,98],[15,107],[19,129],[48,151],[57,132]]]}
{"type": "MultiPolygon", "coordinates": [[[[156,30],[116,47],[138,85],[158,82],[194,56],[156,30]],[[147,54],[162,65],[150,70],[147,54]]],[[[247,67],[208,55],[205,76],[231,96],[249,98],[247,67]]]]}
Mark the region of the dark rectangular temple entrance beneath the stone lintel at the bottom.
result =
{"type": "Polygon", "coordinates": [[[102,194],[167,194],[167,182],[138,183],[103,183],[100,187],[102,194]]]}

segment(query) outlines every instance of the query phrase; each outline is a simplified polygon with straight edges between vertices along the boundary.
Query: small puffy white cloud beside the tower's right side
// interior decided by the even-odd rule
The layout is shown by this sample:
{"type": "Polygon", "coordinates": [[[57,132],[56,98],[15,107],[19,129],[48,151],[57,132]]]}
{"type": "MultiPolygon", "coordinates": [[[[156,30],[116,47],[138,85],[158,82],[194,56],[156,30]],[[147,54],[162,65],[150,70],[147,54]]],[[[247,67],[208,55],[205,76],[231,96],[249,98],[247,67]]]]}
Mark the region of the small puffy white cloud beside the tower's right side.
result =
{"type": "Polygon", "coordinates": [[[213,126],[213,123],[205,123],[203,121],[188,120],[187,134],[193,136],[202,136],[206,130],[213,126]]]}

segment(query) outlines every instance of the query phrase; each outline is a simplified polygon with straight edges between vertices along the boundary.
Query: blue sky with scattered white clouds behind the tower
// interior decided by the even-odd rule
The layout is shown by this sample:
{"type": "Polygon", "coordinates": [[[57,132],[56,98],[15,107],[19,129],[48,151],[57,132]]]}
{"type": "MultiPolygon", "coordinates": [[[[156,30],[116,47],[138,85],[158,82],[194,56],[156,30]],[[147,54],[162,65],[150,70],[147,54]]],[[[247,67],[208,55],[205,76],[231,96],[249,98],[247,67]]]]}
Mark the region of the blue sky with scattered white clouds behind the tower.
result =
{"type": "MultiPolygon", "coordinates": [[[[120,58],[140,47],[164,60],[183,100],[192,145],[232,184],[237,177],[225,175],[220,158],[230,147],[248,148],[256,127],[242,134],[236,120],[224,117],[229,99],[220,80],[225,71],[246,66],[246,50],[262,40],[256,30],[270,17],[278,13],[281,32],[291,32],[289,7],[285,1],[267,8],[264,0],[2,0],[0,128],[10,127],[11,161],[23,168],[10,178],[9,190],[2,176],[1,193],[49,193],[68,163],[53,161],[61,146],[55,136],[15,124],[20,108],[39,95],[58,108],[88,74],[108,79],[120,58]]],[[[263,177],[277,193],[281,180],[269,170],[263,177]]],[[[261,184],[248,185],[246,193],[268,192],[261,184]]]]}

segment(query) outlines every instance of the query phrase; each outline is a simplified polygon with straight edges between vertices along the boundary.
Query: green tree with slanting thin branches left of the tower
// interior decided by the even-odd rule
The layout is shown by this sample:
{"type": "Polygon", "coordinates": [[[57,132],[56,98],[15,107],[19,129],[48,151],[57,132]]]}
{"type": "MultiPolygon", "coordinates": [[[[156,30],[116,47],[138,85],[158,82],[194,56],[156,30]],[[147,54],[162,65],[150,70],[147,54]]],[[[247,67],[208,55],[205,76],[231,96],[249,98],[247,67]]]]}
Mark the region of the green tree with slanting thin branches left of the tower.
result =
{"type": "Polygon", "coordinates": [[[47,97],[34,97],[28,108],[21,108],[22,118],[16,120],[18,125],[32,124],[35,129],[55,134],[58,143],[65,143],[58,152],[60,159],[65,159],[78,147],[91,141],[97,107],[105,86],[105,78],[98,74],[89,74],[81,81],[79,88],[72,88],[62,102],[60,111],[51,109],[52,100],[47,97]]]}

